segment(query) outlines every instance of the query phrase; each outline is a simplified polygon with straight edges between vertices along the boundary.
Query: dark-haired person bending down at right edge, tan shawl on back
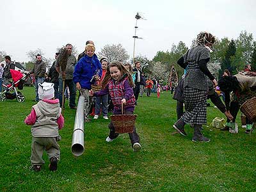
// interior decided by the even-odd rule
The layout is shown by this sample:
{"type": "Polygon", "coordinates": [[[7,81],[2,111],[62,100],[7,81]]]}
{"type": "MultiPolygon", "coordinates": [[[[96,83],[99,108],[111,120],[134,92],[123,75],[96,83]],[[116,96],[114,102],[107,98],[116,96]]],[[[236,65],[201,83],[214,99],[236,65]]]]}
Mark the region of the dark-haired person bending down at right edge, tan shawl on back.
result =
{"type": "MultiPolygon", "coordinates": [[[[245,76],[239,72],[235,76],[223,76],[218,82],[221,92],[225,93],[225,104],[227,110],[230,110],[233,120],[227,120],[226,126],[221,131],[228,131],[235,127],[236,116],[241,105],[256,97],[256,77],[245,76]],[[232,101],[230,102],[230,93],[232,92],[232,101]]],[[[255,113],[256,109],[250,109],[250,113],[255,113]]],[[[245,133],[252,132],[253,122],[246,118],[245,133]]]]}

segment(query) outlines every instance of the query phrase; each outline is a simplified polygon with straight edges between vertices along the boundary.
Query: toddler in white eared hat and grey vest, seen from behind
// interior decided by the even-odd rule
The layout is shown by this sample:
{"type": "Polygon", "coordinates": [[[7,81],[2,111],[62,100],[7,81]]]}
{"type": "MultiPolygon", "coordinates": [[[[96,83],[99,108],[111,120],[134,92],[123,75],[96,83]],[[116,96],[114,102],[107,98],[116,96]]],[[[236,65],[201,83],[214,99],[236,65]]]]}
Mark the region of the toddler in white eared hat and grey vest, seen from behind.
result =
{"type": "Polygon", "coordinates": [[[61,115],[59,99],[54,99],[53,83],[39,83],[38,97],[41,100],[32,106],[31,113],[24,120],[25,124],[31,125],[31,164],[35,172],[40,172],[44,164],[42,156],[45,150],[50,160],[49,169],[54,172],[60,160],[58,130],[63,128],[64,118],[61,115]]]}

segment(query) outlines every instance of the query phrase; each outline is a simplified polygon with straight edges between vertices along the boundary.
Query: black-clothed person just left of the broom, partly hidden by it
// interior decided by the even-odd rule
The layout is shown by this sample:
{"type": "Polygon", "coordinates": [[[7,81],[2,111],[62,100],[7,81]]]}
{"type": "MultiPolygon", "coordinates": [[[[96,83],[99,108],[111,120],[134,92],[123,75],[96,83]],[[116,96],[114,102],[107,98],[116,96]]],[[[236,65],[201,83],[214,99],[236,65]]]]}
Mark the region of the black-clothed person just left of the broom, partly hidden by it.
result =
{"type": "MultiPolygon", "coordinates": [[[[55,60],[57,59],[58,55],[60,54],[60,52],[56,52],[55,54],[55,60]]],[[[48,76],[46,77],[48,79],[49,82],[54,83],[54,97],[58,98],[58,93],[59,93],[59,73],[57,72],[56,68],[55,68],[55,62],[54,61],[52,63],[52,67],[49,69],[48,71],[48,76]]]]}

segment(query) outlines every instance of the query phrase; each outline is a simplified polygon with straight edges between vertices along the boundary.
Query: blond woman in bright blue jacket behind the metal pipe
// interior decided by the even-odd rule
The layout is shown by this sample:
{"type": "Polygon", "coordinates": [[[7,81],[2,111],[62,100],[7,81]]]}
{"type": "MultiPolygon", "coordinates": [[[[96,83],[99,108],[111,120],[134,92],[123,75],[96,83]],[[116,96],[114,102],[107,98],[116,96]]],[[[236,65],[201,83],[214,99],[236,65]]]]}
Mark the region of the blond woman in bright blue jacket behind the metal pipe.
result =
{"type": "Polygon", "coordinates": [[[89,114],[92,105],[92,97],[89,95],[89,90],[92,88],[94,81],[100,79],[102,68],[98,60],[93,44],[87,44],[85,47],[86,55],[81,58],[74,70],[73,81],[76,83],[76,88],[81,90],[81,95],[84,97],[84,122],[90,122],[89,114]]]}

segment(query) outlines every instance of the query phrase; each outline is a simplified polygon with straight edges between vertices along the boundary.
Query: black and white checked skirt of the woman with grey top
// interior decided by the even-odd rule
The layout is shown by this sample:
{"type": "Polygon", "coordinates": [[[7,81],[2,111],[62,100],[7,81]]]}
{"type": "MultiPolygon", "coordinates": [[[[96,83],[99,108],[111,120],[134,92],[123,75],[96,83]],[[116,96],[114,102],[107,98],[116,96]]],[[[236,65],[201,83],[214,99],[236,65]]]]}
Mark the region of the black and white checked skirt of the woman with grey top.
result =
{"type": "Polygon", "coordinates": [[[206,124],[207,93],[191,87],[184,88],[185,113],[182,119],[186,124],[206,124]]]}

